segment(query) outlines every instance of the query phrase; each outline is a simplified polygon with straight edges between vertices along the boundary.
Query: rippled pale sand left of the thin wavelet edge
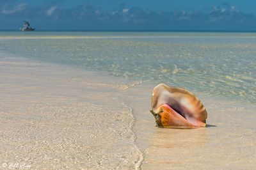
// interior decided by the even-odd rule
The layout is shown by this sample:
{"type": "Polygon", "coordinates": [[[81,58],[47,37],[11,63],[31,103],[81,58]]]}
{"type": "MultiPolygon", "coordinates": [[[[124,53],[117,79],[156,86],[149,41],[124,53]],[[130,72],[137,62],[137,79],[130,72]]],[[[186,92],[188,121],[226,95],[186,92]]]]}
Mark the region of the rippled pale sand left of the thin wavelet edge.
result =
{"type": "Polygon", "coordinates": [[[134,117],[125,82],[68,66],[1,58],[0,167],[133,169],[134,117]]]}

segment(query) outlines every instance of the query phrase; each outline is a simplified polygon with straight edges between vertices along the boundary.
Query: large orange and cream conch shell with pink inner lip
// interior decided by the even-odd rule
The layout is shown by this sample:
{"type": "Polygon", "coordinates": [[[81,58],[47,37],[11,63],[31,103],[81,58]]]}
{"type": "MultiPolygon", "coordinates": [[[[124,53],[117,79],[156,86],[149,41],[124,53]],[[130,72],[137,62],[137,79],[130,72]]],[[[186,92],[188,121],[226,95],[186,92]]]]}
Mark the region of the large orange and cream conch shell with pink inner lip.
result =
{"type": "Polygon", "coordinates": [[[207,111],[193,93],[158,84],[152,92],[152,112],[158,127],[198,128],[206,126],[207,111]]]}

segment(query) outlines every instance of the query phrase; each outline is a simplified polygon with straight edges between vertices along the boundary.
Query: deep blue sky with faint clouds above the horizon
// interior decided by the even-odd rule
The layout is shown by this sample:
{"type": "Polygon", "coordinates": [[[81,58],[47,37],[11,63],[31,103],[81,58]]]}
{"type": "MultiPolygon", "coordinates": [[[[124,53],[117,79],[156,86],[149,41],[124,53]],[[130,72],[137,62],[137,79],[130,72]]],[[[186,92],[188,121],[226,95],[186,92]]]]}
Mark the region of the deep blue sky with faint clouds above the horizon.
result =
{"type": "Polygon", "coordinates": [[[0,30],[256,31],[256,1],[0,0],[0,30]]]}

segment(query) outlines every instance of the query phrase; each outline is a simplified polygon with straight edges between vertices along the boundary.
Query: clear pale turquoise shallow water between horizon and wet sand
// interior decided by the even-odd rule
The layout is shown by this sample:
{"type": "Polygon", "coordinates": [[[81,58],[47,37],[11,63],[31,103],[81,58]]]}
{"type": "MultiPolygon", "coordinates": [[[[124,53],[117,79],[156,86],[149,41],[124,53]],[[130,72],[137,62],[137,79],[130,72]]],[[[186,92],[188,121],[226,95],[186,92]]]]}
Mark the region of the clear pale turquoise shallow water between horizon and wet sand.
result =
{"type": "Polygon", "coordinates": [[[256,33],[1,32],[0,50],[256,101],[256,33]]]}

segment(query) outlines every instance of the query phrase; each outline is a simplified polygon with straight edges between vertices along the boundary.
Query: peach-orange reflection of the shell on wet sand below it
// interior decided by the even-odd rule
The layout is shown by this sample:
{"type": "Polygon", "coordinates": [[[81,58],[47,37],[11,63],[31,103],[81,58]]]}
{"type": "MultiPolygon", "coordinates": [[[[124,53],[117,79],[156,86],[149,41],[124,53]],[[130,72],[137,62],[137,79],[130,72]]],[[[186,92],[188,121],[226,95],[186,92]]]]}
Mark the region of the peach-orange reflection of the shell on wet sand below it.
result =
{"type": "Polygon", "coordinates": [[[166,168],[166,164],[190,162],[194,157],[190,157],[191,154],[196,155],[196,150],[202,148],[207,142],[207,128],[191,130],[156,128],[142,167],[143,169],[156,166],[166,168]]]}

